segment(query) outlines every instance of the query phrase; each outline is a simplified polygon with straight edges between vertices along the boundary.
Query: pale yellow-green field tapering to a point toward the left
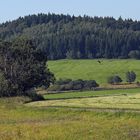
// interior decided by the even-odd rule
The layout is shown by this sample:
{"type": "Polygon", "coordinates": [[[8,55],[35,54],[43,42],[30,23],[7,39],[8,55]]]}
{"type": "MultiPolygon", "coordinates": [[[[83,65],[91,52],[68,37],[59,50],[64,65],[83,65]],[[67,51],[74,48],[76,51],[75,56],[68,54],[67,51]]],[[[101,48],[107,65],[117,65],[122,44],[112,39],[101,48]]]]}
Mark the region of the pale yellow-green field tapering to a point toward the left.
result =
{"type": "Polygon", "coordinates": [[[83,99],[66,99],[41,101],[30,103],[31,106],[41,107],[82,107],[82,108],[101,108],[101,109],[139,109],[140,111],[140,93],[129,95],[100,96],[83,99]]]}

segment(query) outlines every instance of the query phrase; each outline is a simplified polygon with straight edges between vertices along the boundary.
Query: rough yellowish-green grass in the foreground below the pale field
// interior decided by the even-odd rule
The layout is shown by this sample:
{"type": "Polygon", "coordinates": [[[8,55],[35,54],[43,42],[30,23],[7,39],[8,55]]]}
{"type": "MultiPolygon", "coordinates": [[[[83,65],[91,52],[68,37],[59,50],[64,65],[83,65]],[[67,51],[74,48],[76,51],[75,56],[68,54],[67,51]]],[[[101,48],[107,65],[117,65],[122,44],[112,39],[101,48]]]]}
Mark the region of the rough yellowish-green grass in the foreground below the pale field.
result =
{"type": "Polygon", "coordinates": [[[1,140],[139,140],[140,114],[29,107],[0,99],[1,140]]]}

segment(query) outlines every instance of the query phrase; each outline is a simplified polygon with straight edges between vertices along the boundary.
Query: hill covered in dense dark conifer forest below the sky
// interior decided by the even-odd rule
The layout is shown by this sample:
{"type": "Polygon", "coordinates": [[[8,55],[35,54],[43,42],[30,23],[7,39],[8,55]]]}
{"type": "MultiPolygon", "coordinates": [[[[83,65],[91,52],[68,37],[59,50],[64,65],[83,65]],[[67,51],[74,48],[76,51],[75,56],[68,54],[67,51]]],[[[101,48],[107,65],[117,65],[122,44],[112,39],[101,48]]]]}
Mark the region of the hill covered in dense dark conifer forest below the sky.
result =
{"type": "Polygon", "coordinates": [[[0,39],[26,36],[48,59],[140,58],[140,21],[38,14],[0,25],[0,39]]]}

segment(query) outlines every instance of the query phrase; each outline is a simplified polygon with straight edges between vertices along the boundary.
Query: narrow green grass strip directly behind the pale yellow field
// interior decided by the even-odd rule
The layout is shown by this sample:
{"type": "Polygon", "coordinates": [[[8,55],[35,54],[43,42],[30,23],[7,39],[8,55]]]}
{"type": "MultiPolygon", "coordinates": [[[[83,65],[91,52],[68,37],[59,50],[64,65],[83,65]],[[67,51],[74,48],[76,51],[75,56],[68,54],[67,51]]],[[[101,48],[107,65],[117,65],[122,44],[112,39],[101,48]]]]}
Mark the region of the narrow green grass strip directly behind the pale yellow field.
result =
{"type": "Polygon", "coordinates": [[[73,98],[85,98],[85,97],[124,95],[124,94],[132,94],[132,93],[134,94],[140,93],[140,88],[45,94],[44,98],[46,100],[56,100],[56,99],[73,99],[73,98]]]}

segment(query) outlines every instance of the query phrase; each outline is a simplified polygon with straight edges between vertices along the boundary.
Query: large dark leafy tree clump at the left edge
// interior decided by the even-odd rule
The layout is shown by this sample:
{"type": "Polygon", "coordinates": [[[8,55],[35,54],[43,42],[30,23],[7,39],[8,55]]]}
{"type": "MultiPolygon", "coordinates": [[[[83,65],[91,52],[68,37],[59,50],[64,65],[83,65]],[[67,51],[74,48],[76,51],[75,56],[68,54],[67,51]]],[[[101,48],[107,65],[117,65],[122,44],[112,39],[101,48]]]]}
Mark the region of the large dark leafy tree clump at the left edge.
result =
{"type": "Polygon", "coordinates": [[[53,74],[46,69],[46,57],[32,41],[18,38],[0,42],[1,96],[26,95],[31,88],[53,82],[53,74]]]}

